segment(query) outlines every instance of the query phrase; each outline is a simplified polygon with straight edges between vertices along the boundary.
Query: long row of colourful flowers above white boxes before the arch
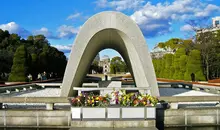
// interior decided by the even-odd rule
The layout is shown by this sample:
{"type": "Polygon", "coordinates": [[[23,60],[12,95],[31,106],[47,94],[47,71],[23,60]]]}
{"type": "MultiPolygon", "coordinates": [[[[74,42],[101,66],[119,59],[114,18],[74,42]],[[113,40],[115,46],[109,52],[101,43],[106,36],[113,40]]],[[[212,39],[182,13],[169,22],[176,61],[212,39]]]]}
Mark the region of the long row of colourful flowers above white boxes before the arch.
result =
{"type": "Polygon", "coordinates": [[[93,93],[82,93],[75,98],[70,98],[72,106],[88,106],[88,107],[107,107],[110,104],[120,104],[121,106],[155,106],[158,98],[149,94],[129,93],[125,90],[115,91],[105,96],[94,95],[93,93]]]}

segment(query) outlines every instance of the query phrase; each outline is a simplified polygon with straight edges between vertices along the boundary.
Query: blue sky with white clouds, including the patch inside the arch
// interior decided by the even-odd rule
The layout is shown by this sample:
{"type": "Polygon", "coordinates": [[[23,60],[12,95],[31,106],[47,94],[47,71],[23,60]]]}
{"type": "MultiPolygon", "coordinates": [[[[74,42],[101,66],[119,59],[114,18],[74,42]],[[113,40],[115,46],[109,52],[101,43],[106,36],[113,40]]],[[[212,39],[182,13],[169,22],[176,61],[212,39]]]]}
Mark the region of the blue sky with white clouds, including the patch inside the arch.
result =
{"type": "MultiPolygon", "coordinates": [[[[142,30],[149,50],[170,38],[188,38],[189,19],[220,16],[219,0],[1,0],[0,28],[28,35],[44,34],[68,56],[80,26],[101,11],[120,11],[142,30]]],[[[101,56],[119,55],[104,50],[101,56]]]]}

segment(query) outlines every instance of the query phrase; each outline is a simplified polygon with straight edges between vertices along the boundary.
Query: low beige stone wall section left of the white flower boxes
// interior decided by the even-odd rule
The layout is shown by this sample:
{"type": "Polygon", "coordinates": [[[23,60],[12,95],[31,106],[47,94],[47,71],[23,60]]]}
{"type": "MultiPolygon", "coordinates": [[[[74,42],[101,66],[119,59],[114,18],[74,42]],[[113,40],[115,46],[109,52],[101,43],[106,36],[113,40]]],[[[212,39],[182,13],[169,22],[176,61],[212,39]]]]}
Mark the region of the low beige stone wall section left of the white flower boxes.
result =
{"type": "Polygon", "coordinates": [[[1,127],[70,126],[69,110],[0,110],[1,127]]]}

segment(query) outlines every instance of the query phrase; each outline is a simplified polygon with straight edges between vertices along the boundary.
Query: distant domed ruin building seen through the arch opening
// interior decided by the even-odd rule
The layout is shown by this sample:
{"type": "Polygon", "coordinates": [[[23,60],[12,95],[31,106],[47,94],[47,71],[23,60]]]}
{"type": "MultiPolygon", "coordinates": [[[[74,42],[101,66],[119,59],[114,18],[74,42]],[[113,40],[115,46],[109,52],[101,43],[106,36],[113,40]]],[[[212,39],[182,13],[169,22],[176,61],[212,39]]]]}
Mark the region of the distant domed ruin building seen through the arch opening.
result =
{"type": "Polygon", "coordinates": [[[110,58],[107,55],[104,55],[100,62],[99,66],[103,67],[103,73],[110,73],[110,58]]]}

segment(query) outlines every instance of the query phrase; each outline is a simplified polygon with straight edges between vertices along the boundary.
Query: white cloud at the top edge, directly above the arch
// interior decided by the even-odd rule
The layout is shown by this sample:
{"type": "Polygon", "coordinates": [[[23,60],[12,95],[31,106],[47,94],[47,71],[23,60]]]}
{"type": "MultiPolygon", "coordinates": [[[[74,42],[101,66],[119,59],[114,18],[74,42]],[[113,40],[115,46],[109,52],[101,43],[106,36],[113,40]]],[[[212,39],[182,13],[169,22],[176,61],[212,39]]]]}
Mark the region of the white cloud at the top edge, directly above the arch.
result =
{"type": "Polygon", "coordinates": [[[141,7],[145,1],[144,0],[97,0],[96,5],[100,8],[114,8],[117,11],[127,10],[127,9],[137,9],[141,7]]]}

